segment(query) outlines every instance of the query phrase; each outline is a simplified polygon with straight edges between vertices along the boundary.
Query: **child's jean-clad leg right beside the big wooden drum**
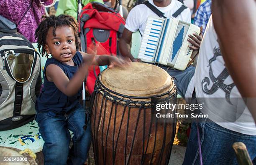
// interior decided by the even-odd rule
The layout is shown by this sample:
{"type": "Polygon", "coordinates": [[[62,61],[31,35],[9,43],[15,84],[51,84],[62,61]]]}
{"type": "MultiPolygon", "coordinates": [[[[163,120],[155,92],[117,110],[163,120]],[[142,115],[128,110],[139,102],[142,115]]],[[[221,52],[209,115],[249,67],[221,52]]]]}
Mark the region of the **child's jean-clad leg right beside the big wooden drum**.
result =
{"type": "Polygon", "coordinates": [[[85,111],[83,108],[74,110],[68,118],[68,129],[74,133],[72,138],[73,147],[69,153],[68,163],[75,165],[83,164],[87,160],[87,152],[91,144],[91,125],[87,124],[84,131],[85,111]]]}

